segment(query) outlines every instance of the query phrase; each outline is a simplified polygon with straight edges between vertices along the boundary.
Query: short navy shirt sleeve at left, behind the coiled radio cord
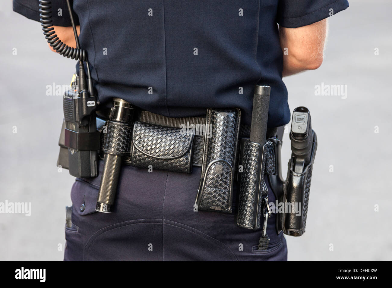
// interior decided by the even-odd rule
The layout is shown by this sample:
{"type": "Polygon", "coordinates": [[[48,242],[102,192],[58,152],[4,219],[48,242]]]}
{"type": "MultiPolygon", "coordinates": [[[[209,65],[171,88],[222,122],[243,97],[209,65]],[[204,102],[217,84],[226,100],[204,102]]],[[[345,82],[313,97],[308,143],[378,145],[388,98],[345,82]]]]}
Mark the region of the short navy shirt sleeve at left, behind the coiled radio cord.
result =
{"type": "MultiPolygon", "coordinates": [[[[73,1],[70,1],[71,5],[73,1]]],[[[71,18],[65,0],[52,0],[52,23],[56,26],[71,26],[71,18]],[[59,10],[61,9],[61,10],[59,10]]],[[[15,12],[23,16],[40,21],[40,2],[39,0],[13,0],[12,8],[15,12]]],[[[73,13],[75,24],[79,25],[78,16],[73,13]]]]}

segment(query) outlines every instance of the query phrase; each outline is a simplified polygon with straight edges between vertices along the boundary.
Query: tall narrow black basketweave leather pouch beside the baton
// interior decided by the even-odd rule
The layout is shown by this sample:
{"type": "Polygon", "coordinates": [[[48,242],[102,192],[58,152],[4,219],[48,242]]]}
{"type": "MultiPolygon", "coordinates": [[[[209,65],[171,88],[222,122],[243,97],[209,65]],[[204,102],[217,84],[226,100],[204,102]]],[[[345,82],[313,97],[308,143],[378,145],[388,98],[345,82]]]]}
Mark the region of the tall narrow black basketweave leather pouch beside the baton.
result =
{"type": "Polygon", "coordinates": [[[240,109],[208,109],[198,210],[232,212],[234,167],[240,130],[240,109]],[[209,137],[210,136],[210,137],[209,137]]]}

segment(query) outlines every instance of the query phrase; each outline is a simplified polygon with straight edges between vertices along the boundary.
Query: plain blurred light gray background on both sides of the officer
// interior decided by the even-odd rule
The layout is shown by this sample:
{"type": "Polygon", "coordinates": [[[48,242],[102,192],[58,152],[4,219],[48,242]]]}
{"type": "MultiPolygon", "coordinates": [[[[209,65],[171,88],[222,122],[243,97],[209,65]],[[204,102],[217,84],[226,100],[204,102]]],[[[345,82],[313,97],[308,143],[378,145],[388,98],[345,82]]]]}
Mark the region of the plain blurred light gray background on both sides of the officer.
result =
{"type": "MultiPolygon", "coordinates": [[[[49,51],[40,23],[11,1],[0,9],[0,202],[32,205],[30,217],[0,214],[0,260],[62,260],[74,178],[56,167],[62,97],[45,93],[68,85],[76,62],[49,51]]],[[[307,233],[286,236],[289,260],[392,260],[390,11],[390,0],[351,0],[330,18],[323,65],[284,79],[290,109],[310,109],[319,141],[307,233]],[[321,83],[347,85],[347,98],[316,96],[321,83]]],[[[286,133],[284,176],[289,144],[286,133]]]]}

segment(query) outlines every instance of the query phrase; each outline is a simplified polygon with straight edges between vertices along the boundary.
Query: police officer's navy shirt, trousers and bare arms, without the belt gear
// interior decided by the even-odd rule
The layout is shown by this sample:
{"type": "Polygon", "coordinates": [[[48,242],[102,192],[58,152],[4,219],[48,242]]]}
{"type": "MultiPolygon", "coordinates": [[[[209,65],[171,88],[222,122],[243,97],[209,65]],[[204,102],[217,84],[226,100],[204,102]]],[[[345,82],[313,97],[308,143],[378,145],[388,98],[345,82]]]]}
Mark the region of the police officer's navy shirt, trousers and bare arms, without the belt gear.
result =
{"type": "MultiPolygon", "coordinates": [[[[14,11],[37,21],[38,5],[13,0],[14,11]]],[[[290,121],[282,76],[321,65],[326,18],[347,7],[347,0],[73,1],[102,107],[114,97],[167,117],[239,107],[250,125],[253,89],[262,83],[271,87],[269,128],[290,121]]],[[[52,9],[56,34],[75,46],[65,1],[53,0],[52,9]]],[[[200,167],[183,174],[123,166],[115,213],[104,214],[95,210],[100,176],[77,178],[64,259],[287,260],[275,225],[267,226],[267,250],[255,247],[260,231],[236,226],[236,188],[231,214],[196,212],[199,181],[200,167]]]]}

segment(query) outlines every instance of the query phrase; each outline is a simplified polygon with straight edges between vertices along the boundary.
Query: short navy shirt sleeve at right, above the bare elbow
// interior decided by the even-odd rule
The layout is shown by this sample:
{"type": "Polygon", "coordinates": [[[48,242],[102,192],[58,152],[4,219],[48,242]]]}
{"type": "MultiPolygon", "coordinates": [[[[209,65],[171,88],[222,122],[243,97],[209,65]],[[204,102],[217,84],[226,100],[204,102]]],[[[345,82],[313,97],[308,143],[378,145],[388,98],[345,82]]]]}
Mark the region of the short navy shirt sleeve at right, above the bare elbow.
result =
{"type": "Polygon", "coordinates": [[[286,28],[297,28],[321,21],[347,7],[347,0],[279,0],[277,22],[286,28]]]}

